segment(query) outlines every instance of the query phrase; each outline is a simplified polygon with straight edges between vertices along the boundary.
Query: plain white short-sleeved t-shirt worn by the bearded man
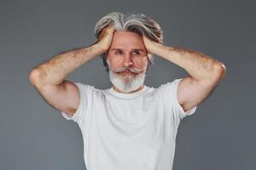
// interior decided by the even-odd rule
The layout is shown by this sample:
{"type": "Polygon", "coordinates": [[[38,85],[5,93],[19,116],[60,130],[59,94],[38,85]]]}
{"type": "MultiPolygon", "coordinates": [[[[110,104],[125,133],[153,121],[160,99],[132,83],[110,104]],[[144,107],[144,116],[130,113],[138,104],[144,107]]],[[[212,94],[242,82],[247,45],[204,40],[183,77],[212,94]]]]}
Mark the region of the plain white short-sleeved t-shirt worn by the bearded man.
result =
{"type": "Polygon", "coordinates": [[[79,124],[88,170],[172,170],[176,134],[184,112],[177,102],[181,79],[159,88],[144,88],[120,94],[108,88],[74,82],[80,95],[73,116],[61,115],[79,124]]]}

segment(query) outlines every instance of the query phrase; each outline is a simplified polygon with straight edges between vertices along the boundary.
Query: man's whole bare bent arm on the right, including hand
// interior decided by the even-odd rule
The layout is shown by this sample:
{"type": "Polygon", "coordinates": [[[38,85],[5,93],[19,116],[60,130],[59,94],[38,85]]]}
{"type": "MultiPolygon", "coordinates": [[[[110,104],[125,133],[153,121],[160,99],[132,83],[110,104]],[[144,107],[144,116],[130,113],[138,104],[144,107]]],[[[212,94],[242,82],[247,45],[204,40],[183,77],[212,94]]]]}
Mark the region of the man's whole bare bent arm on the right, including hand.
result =
{"type": "Polygon", "coordinates": [[[223,63],[216,59],[186,48],[167,47],[143,37],[149,54],[156,54],[188,71],[189,76],[179,82],[177,101],[183,111],[201,104],[217,87],[226,74],[223,63]]]}

